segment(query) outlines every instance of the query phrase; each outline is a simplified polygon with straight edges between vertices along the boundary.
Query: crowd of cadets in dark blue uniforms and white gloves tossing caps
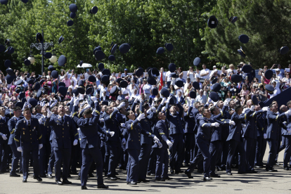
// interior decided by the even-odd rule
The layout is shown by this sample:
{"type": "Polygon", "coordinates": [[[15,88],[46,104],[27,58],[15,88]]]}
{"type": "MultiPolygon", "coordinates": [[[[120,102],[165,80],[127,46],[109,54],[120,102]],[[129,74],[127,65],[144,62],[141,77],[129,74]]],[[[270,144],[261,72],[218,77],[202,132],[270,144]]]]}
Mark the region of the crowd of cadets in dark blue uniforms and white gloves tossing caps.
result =
{"type": "MultiPolygon", "coordinates": [[[[233,100],[213,105],[211,99],[205,105],[192,99],[182,107],[171,102],[170,97],[146,103],[139,96],[130,105],[127,101],[119,105],[111,101],[107,106],[94,96],[90,101],[74,97],[70,103],[72,112],[63,102],[50,106],[42,101],[24,108],[12,102],[2,105],[1,172],[8,172],[12,157],[10,176],[22,173],[23,182],[27,182],[28,168],[33,164],[33,178],[37,181],[42,181],[41,177],[53,179],[54,167],[56,183],[71,184],[68,178],[77,174],[79,158],[82,189],[86,189],[94,168],[98,188],[108,188],[103,183],[103,172],[108,180],[117,181],[118,166],[127,170],[127,184],[131,186],[148,182],[147,175],[154,175],[157,182],[171,180],[168,169],[171,174],[184,173],[189,179],[198,169],[204,173],[203,179],[210,181],[220,177],[215,171],[226,170],[227,175],[232,175],[235,165],[238,174],[256,173],[255,167],[263,167],[266,142],[270,147],[266,171],[276,172],[273,165],[283,150],[280,136],[286,140],[291,137],[291,101],[280,107],[281,114],[276,101],[261,108],[250,100],[244,109],[233,100]],[[181,170],[183,162],[188,167],[185,172],[181,170]]],[[[284,153],[286,170],[291,154],[289,142],[284,153]]]]}

